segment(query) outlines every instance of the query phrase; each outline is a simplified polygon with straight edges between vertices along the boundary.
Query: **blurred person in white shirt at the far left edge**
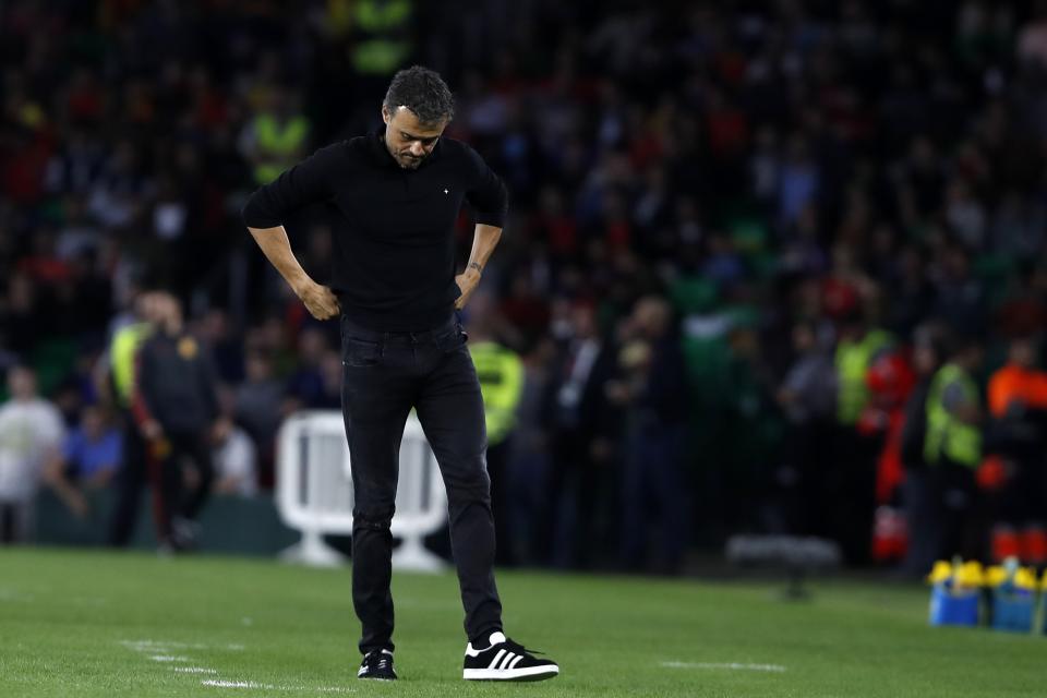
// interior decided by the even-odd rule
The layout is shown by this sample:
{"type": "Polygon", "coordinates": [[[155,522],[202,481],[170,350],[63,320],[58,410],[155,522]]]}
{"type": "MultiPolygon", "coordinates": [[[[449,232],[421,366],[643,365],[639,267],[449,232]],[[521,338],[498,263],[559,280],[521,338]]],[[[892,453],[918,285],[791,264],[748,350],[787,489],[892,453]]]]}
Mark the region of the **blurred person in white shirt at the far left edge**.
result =
{"type": "Polygon", "coordinates": [[[0,543],[32,535],[33,504],[44,467],[59,456],[65,428],[61,413],[36,394],[25,366],[8,372],[11,399],[0,406],[0,543]]]}

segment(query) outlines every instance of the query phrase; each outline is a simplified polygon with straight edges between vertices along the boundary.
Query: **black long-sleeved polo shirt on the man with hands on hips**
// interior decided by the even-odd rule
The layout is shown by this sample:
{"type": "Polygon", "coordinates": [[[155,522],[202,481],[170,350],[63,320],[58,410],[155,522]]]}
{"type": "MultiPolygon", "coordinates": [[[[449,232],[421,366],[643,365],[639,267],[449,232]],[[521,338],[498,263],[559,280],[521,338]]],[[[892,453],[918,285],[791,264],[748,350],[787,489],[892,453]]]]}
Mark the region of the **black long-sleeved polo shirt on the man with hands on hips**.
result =
{"type": "Polygon", "coordinates": [[[316,151],[248,200],[243,221],[275,228],[312,203],[333,214],[332,289],[349,320],[380,330],[446,322],[455,284],[455,221],[464,201],[478,224],[503,227],[505,185],[471,147],[441,137],[416,170],[385,147],[384,131],[316,151]]]}

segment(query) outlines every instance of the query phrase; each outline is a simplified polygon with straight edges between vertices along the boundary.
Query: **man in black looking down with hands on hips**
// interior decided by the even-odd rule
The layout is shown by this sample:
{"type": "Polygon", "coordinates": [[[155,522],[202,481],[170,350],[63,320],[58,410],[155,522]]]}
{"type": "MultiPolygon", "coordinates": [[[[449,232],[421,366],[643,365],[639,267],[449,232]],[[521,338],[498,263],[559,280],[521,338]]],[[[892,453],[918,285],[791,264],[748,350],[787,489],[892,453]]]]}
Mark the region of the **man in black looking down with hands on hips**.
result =
{"type": "Polygon", "coordinates": [[[557,665],[502,630],[483,402],[455,314],[502,234],[505,185],[468,145],[441,137],[453,113],[454,98],[436,73],[400,71],[382,105],[382,132],[321,148],[255,192],[243,220],[314,317],[341,315],[356,493],[352,600],[363,626],[358,676],[396,678],[389,524],[404,424],[414,408],[447,488],[469,636],[464,677],[549,678],[557,665]],[[464,201],[477,227],[469,263],[456,276],[454,226],[464,201]],[[329,288],[305,274],[281,225],[310,203],[334,209],[329,288]]]}

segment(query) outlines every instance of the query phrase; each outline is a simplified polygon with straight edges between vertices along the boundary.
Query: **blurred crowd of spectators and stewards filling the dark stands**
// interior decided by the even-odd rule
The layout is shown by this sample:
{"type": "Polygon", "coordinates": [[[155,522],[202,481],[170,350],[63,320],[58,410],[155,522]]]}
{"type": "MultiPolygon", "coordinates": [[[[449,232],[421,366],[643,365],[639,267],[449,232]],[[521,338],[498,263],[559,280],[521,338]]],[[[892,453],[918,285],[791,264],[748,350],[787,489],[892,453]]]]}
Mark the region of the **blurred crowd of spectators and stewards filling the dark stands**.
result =
{"type": "MultiPolygon", "coordinates": [[[[0,38],[3,409],[32,368],[60,417],[31,466],[0,428],[0,503],[119,469],[76,454],[125,417],[99,376],[157,288],[214,444],[245,436],[227,486],[273,486],[340,358],[239,208],[420,62],[512,196],[466,316],[521,375],[489,397],[503,562],[674,571],[736,531],[1047,562],[1047,3],[15,0],[0,38]]],[[[323,214],[288,222],[318,280],[323,214]]]]}

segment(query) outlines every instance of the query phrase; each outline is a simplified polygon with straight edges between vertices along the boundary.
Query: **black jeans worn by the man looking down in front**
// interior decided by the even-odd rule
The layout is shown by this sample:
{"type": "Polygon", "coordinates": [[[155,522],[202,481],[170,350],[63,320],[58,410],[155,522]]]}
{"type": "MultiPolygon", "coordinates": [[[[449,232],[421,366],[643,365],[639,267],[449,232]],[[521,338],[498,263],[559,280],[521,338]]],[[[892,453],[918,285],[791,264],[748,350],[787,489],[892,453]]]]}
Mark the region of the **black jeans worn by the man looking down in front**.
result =
{"type": "Polygon", "coordinates": [[[360,651],[393,649],[393,537],[400,440],[413,407],[447,489],[450,543],[471,640],[502,628],[477,371],[457,321],[383,333],[341,321],[341,405],[352,462],[352,603],[360,651]]]}

